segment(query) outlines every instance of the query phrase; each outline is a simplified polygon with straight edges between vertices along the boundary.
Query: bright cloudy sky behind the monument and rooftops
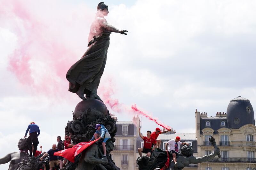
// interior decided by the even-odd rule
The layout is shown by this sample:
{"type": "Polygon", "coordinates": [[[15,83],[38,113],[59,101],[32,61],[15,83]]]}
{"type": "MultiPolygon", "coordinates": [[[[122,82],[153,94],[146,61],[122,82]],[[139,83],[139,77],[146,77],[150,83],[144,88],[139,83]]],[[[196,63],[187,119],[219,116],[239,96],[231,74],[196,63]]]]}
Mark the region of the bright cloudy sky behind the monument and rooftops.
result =
{"type": "MultiPolygon", "coordinates": [[[[132,121],[136,104],[177,132],[195,132],[195,109],[214,116],[237,96],[256,105],[256,1],[104,2],[108,23],[129,31],[111,34],[98,89],[118,120],[132,121]]],[[[18,151],[31,121],[45,151],[63,138],[80,101],[65,75],[87,49],[97,4],[0,0],[0,157],[18,151]]],[[[142,117],[142,131],[156,127],[142,117]]]]}

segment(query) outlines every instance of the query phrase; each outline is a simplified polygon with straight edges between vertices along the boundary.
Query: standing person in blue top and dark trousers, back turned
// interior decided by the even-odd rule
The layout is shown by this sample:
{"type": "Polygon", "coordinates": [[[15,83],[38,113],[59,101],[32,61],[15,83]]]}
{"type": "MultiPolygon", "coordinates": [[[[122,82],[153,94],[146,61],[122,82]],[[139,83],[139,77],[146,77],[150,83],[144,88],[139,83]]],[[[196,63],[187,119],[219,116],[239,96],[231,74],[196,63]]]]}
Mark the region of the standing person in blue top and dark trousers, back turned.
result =
{"type": "Polygon", "coordinates": [[[27,137],[28,130],[29,130],[29,137],[27,139],[27,143],[28,143],[28,148],[29,148],[29,157],[31,157],[32,156],[32,143],[34,146],[33,156],[35,156],[35,154],[36,154],[37,145],[39,144],[37,137],[40,135],[40,129],[35,124],[35,122],[30,122],[30,124],[28,125],[28,129],[26,130],[24,138],[27,137]]]}

